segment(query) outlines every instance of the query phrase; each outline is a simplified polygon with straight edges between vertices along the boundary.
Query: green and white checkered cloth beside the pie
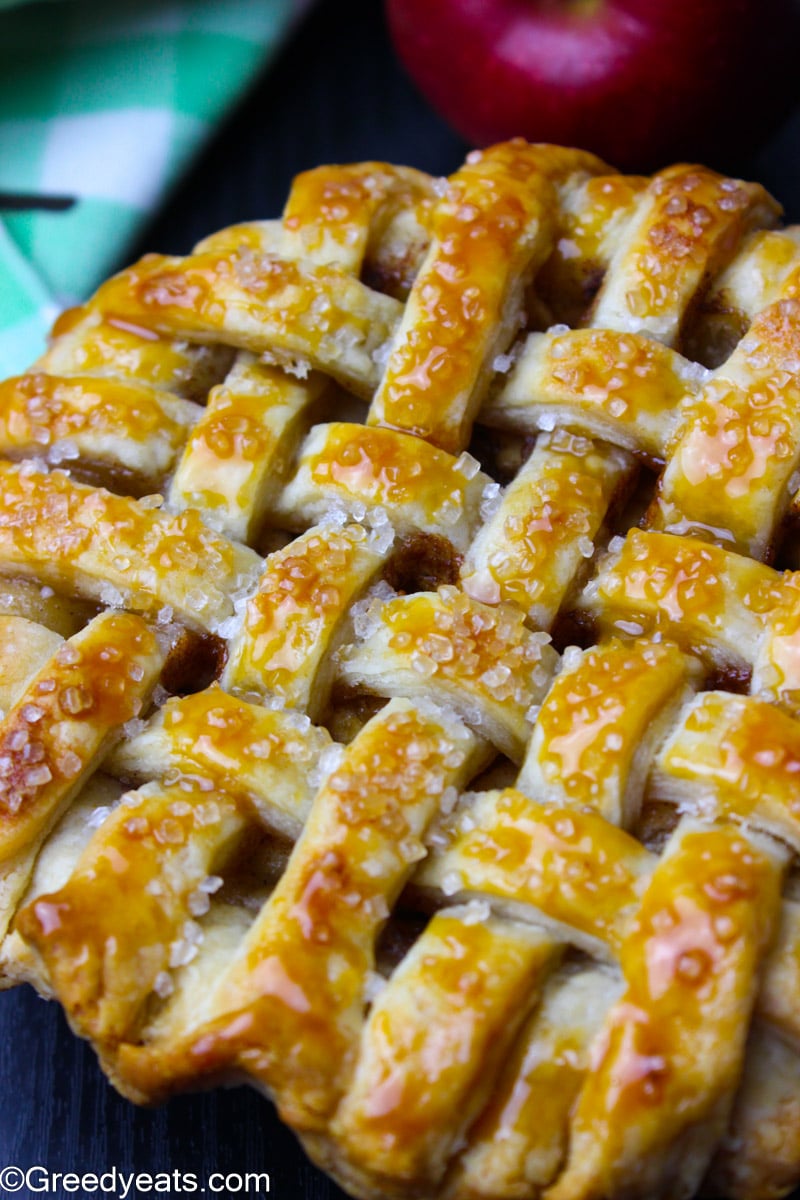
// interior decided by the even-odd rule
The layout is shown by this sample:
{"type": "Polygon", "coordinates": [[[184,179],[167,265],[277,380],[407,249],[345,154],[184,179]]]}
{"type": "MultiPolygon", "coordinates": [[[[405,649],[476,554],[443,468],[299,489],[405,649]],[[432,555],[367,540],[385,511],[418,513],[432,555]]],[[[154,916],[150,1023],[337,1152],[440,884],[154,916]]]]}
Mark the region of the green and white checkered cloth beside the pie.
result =
{"type": "Polygon", "coordinates": [[[120,262],[305,0],[0,0],[0,378],[120,262]]]}

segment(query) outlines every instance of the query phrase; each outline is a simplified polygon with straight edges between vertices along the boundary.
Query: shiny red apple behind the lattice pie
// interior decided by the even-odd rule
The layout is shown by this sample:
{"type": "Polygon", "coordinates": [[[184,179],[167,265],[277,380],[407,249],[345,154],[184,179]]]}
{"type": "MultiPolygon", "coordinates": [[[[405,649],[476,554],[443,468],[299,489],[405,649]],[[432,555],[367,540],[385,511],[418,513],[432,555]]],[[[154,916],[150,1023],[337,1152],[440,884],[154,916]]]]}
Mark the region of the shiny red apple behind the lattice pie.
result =
{"type": "Polygon", "coordinates": [[[401,59],[469,142],[626,169],[741,161],[800,98],[792,0],[386,0],[401,59]]]}

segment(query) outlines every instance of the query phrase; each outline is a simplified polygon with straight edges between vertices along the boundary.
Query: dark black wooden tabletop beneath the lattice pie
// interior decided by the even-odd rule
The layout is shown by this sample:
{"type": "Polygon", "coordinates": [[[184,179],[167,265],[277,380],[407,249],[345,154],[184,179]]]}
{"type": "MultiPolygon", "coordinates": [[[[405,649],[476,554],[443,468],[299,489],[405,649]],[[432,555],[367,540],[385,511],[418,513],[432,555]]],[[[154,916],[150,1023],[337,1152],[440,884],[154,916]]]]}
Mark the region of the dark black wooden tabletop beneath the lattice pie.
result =
{"type": "MultiPolygon", "coordinates": [[[[378,0],[323,0],[134,252],[184,253],[212,229],[277,216],[291,176],[320,162],[383,158],[446,174],[465,149],[396,65],[378,0]]],[[[795,120],[756,162],[712,166],[762,179],[799,220],[798,150],[795,120]]],[[[154,1111],[120,1099],[56,1006],[28,988],[0,995],[0,1169],[7,1164],[97,1175],[113,1166],[179,1170],[194,1172],[200,1184],[213,1171],[266,1170],[270,1195],[279,1200],[343,1195],[254,1092],[186,1097],[154,1111]]]]}

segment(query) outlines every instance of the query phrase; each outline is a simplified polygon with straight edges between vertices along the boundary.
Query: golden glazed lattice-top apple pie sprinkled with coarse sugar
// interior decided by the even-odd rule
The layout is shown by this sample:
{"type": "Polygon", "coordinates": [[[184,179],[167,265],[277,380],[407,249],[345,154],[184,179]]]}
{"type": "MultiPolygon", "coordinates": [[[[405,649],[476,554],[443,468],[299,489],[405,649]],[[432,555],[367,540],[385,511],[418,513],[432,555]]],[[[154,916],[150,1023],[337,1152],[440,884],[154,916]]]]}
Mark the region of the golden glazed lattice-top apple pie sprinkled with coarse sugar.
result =
{"type": "Polygon", "coordinates": [[[324,167],[1,385],[2,972],[121,1092],[243,1076],[363,1198],[800,1180],[778,217],[324,167]]]}

